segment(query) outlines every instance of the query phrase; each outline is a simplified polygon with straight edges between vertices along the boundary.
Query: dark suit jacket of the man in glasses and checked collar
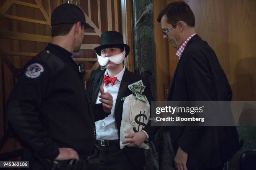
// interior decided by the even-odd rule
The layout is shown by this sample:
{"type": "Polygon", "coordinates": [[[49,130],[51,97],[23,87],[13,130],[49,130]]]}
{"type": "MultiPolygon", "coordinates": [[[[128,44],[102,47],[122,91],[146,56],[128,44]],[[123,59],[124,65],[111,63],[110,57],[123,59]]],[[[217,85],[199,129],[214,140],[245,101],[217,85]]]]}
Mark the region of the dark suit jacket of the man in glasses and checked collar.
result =
{"type": "MultiPolygon", "coordinates": [[[[228,101],[232,90],[212,48],[195,35],[187,43],[174,72],[168,100],[228,101]]],[[[174,152],[188,153],[187,168],[217,167],[238,150],[236,127],[170,127],[174,152]]]]}

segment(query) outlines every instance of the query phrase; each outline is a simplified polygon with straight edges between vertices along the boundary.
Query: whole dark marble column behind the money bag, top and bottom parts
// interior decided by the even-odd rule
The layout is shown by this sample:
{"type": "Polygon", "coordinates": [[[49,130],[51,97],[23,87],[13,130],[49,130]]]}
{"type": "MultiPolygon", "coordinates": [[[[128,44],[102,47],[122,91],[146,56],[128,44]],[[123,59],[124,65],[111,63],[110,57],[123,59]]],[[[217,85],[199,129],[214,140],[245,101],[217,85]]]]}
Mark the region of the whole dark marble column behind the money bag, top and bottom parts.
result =
{"type": "MultiPolygon", "coordinates": [[[[152,0],[133,0],[134,25],[134,70],[138,75],[148,78],[151,91],[155,91],[155,51],[153,28],[153,2],[152,0]]],[[[159,141],[160,134],[148,143],[149,150],[145,150],[145,170],[159,170],[159,141]]]]}

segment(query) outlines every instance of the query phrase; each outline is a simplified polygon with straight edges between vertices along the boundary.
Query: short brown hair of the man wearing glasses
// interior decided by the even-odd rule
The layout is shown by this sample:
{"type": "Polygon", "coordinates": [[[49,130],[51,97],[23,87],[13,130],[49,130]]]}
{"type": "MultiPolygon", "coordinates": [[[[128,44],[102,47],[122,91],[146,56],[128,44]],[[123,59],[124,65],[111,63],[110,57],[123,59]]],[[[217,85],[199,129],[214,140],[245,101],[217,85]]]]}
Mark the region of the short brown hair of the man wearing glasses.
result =
{"type": "Polygon", "coordinates": [[[179,21],[184,21],[189,27],[195,27],[195,15],[186,2],[178,1],[169,3],[164,10],[159,13],[157,17],[159,23],[164,15],[167,16],[167,23],[171,25],[179,21]]]}

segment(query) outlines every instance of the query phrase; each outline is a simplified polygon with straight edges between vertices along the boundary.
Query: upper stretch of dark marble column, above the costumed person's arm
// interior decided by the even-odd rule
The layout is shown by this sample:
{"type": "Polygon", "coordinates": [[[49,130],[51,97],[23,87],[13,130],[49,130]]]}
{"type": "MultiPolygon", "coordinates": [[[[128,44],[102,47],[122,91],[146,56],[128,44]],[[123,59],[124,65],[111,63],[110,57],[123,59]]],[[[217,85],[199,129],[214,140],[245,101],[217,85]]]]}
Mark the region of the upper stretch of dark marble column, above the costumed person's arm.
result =
{"type": "Polygon", "coordinates": [[[147,77],[155,97],[155,55],[152,0],[133,0],[134,70],[147,77]]]}

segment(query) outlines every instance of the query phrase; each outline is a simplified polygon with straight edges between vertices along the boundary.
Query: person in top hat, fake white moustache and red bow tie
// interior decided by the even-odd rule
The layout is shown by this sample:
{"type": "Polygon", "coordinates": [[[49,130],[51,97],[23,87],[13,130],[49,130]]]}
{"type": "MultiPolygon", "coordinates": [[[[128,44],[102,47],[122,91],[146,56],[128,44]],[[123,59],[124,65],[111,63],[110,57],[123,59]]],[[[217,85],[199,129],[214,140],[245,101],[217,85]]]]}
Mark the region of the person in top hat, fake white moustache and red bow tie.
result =
{"type": "Polygon", "coordinates": [[[95,70],[91,73],[89,92],[92,94],[92,104],[105,102],[101,99],[99,91],[101,85],[104,91],[113,96],[113,107],[111,114],[100,121],[95,122],[97,131],[96,144],[100,148],[99,170],[142,170],[145,165],[144,150],[136,148],[146,139],[153,138],[156,129],[150,123],[138,133],[126,136],[125,143],[130,143],[124,149],[120,149],[120,125],[123,112],[123,97],[131,95],[128,85],[143,81],[146,86],[144,95],[149,103],[154,100],[148,80],[140,75],[127,70],[123,64],[124,58],[129,54],[130,47],[123,43],[123,35],[116,31],[103,32],[100,37],[100,46],[96,47],[100,65],[106,68],[95,70]]]}

